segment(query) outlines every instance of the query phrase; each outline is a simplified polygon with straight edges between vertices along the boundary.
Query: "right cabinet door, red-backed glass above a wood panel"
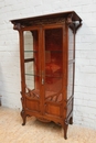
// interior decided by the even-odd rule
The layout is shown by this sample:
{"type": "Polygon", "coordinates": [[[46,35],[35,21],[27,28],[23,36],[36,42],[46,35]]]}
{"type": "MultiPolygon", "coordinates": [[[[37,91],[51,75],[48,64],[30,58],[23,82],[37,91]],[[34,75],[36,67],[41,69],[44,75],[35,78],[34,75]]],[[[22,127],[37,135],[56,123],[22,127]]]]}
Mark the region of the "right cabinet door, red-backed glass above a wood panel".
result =
{"type": "Polygon", "coordinates": [[[61,117],[63,90],[63,28],[44,28],[44,113],[61,117]]]}

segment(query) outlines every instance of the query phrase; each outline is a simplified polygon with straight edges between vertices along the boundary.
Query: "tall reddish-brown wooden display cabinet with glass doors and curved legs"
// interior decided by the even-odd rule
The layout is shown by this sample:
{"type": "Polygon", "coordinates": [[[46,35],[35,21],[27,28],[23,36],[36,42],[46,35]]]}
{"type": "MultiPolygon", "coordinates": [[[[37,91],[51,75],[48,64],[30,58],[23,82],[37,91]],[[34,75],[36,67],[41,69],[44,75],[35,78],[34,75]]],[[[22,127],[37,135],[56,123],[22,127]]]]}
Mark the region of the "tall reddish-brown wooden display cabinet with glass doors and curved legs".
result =
{"type": "Polygon", "coordinates": [[[21,101],[26,117],[55,122],[67,135],[73,123],[75,34],[82,19],[74,12],[11,20],[19,31],[21,101]]]}

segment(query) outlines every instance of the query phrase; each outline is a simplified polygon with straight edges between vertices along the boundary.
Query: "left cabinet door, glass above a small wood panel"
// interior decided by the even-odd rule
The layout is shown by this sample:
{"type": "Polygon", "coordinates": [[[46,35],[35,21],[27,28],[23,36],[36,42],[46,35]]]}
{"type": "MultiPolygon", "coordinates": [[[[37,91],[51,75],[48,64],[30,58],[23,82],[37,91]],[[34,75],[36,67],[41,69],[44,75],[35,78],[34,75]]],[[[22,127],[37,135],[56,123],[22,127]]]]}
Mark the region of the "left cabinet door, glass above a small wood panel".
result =
{"type": "Polygon", "coordinates": [[[25,107],[41,111],[40,31],[24,31],[25,107]]]}

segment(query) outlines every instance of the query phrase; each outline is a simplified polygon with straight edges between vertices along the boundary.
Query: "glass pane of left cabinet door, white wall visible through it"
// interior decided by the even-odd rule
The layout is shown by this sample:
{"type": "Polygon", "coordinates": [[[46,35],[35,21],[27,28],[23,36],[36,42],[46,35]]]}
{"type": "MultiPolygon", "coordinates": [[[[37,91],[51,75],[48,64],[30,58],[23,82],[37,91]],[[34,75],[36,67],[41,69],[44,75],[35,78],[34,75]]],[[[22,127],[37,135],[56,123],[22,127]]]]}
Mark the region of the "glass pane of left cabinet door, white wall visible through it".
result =
{"type": "Polygon", "coordinates": [[[39,32],[24,31],[24,73],[26,95],[40,98],[39,32]]]}

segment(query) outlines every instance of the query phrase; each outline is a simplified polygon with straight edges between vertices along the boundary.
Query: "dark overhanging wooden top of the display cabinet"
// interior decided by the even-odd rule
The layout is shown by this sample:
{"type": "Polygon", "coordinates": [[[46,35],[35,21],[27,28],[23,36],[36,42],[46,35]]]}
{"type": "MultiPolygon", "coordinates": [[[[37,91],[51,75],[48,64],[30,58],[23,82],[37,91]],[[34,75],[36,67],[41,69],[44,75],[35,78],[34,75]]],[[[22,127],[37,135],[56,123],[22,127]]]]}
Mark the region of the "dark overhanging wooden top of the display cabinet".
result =
{"type": "Polygon", "coordinates": [[[53,13],[53,14],[46,14],[46,15],[32,16],[32,18],[15,19],[15,20],[10,20],[10,21],[13,24],[17,24],[17,23],[25,24],[31,21],[54,19],[54,18],[65,18],[65,19],[71,18],[72,21],[82,21],[82,19],[76,14],[75,11],[66,11],[62,13],[53,13]]]}

